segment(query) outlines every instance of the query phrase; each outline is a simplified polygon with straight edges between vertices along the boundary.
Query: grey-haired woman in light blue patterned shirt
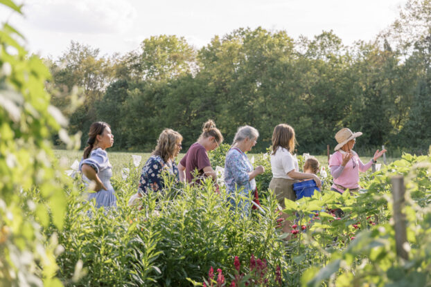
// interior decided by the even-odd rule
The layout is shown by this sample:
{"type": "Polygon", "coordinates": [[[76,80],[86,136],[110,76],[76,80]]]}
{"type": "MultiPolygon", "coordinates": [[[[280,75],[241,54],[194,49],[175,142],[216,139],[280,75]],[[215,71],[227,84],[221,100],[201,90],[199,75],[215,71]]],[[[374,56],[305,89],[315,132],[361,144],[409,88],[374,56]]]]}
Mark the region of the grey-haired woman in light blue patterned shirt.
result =
{"type": "Polygon", "coordinates": [[[230,203],[232,208],[238,208],[243,214],[248,215],[250,212],[250,202],[248,198],[256,189],[256,180],[258,174],[263,174],[263,166],[259,165],[253,169],[252,163],[245,154],[251,151],[256,145],[259,136],[257,129],[250,126],[238,128],[234,143],[227,152],[225,161],[225,183],[227,192],[230,194],[230,203]],[[238,195],[245,198],[236,198],[238,195]],[[246,199],[247,198],[247,199],[246,199]]]}

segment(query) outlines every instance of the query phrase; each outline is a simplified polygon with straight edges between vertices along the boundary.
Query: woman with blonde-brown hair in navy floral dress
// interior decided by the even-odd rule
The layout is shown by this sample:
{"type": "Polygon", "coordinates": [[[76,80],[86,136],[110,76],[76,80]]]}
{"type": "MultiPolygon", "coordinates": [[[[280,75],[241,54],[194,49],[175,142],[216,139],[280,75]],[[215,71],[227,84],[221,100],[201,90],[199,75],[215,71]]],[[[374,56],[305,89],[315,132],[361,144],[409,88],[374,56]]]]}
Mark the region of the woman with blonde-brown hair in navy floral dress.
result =
{"type": "Polygon", "coordinates": [[[157,147],[152,151],[150,158],[142,168],[138,186],[140,196],[147,194],[148,190],[159,192],[164,188],[163,177],[161,176],[164,171],[175,176],[175,180],[179,181],[178,168],[174,159],[182,148],[181,142],[182,136],[173,129],[165,129],[160,133],[157,147]]]}

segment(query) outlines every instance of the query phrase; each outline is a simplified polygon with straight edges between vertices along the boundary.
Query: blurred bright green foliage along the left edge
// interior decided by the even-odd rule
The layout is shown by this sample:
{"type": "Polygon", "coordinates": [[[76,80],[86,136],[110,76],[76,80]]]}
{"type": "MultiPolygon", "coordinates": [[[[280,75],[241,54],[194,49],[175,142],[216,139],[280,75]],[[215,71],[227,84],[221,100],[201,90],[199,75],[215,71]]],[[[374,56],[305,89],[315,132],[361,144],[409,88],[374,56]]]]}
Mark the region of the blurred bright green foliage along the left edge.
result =
{"type": "MultiPolygon", "coordinates": [[[[21,13],[21,6],[0,1],[21,13]]],[[[21,34],[4,24],[0,30],[0,285],[62,286],[55,257],[62,250],[56,234],[66,210],[68,183],[48,140],[67,125],[50,105],[46,66],[21,46],[21,34]]],[[[69,142],[69,145],[73,142],[69,142]]]]}

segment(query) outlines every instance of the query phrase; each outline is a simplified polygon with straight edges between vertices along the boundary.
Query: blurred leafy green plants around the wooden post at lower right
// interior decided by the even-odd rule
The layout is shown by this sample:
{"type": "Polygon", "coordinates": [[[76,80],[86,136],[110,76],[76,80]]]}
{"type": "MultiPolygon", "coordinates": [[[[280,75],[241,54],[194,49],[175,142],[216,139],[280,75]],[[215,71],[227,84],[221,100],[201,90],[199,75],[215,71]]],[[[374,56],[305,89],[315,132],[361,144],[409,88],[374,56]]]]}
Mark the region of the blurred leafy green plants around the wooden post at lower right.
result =
{"type": "MultiPolygon", "coordinates": [[[[336,195],[344,207],[348,216],[337,221],[337,224],[329,224],[331,216],[325,212],[320,213],[319,220],[315,221],[304,235],[306,244],[319,248],[322,254],[326,254],[326,266],[324,268],[311,267],[302,279],[303,286],[320,286],[322,282],[329,282],[336,286],[362,286],[371,284],[374,286],[426,286],[430,281],[428,268],[431,261],[430,238],[430,200],[431,178],[429,171],[431,156],[412,156],[405,154],[403,159],[388,165],[380,172],[373,174],[374,178],[364,178],[362,186],[368,188],[366,194],[351,197],[348,193],[343,196],[336,195]],[[406,183],[406,206],[403,212],[407,219],[407,241],[405,247],[409,259],[404,261],[396,254],[394,239],[394,225],[391,218],[392,194],[389,185],[390,178],[396,174],[403,174],[406,183]],[[367,216],[367,218],[364,218],[367,216]],[[329,219],[329,221],[328,221],[329,219]],[[371,220],[371,221],[370,221],[371,220]],[[358,223],[356,223],[358,221],[358,223]],[[360,226],[360,232],[354,235],[355,239],[349,239],[342,234],[354,231],[351,224],[360,226]],[[373,224],[369,224],[373,223],[373,224]],[[365,228],[367,226],[367,228],[365,228]],[[334,230],[334,228],[336,230],[334,230]],[[330,236],[325,237],[325,234],[330,236]],[[326,248],[325,244],[331,242],[331,236],[338,235],[338,239],[351,241],[346,248],[326,248]],[[326,243],[322,240],[326,239],[326,243]]],[[[310,205],[328,205],[328,196],[312,198],[307,201],[310,205]]],[[[304,206],[301,201],[291,204],[289,209],[304,206]]],[[[313,207],[310,207],[313,208],[313,207]]],[[[298,210],[304,211],[299,207],[298,210]]],[[[333,221],[336,222],[336,221],[333,221]]],[[[349,236],[350,237],[350,236],[349,236]]],[[[332,245],[333,245],[332,243],[332,245]]]]}

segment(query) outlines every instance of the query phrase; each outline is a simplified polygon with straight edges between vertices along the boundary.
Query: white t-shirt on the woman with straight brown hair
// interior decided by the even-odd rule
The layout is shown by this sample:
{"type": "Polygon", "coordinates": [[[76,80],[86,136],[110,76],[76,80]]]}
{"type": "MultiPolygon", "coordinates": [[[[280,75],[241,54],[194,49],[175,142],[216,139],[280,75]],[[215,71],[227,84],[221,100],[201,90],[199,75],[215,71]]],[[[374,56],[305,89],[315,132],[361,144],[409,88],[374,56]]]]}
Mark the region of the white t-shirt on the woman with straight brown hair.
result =
{"type": "Polygon", "coordinates": [[[271,169],[274,178],[293,179],[288,176],[288,172],[293,169],[299,172],[297,157],[292,156],[287,149],[279,147],[275,155],[271,154],[271,169]]]}

